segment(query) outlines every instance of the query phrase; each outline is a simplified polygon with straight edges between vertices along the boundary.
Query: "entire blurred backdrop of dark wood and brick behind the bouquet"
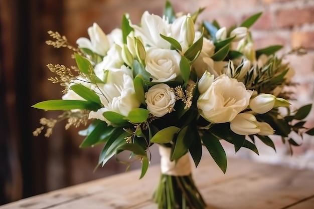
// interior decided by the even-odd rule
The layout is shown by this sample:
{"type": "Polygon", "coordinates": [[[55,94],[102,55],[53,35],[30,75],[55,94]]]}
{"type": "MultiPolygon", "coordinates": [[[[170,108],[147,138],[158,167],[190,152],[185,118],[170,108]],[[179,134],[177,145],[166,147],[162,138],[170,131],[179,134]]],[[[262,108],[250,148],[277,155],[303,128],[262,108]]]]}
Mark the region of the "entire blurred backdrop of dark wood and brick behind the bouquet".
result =
{"type": "MultiPolygon", "coordinates": [[[[314,1],[311,0],[172,0],[176,12],[206,10],[200,19],[216,19],[222,26],[232,26],[257,12],[263,12],[252,27],[256,49],[283,45],[281,54],[304,47],[302,57],[289,55],[286,61],[295,69],[297,108],[313,103],[314,97],[314,1]]],[[[71,51],[45,44],[47,31],[65,35],[75,45],[88,37],[94,22],[110,33],[120,27],[121,17],[129,13],[138,23],[142,13],[162,15],[161,0],[0,0],[0,204],[65,186],[123,172],[125,166],[110,161],[96,172],[101,146],[79,149],[83,137],[78,129],[64,130],[64,123],[54,128],[50,138],[34,137],[41,117],[56,118],[60,112],[44,112],[31,105],[59,99],[62,88],[47,78],[54,76],[47,64],[74,65],[71,51]]],[[[314,125],[314,111],[307,117],[314,125]]],[[[296,140],[301,142],[301,140],[296,140]]],[[[260,145],[258,145],[260,146],[260,145]]],[[[240,151],[236,156],[280,163],[296,168],[314,169],[314,139],[305,136],[302,145],[290,156],[288,148],[276,141],[277,153],[260,146],[260,155],[240,151]]],[[[228,148],[227,155],[234,150],[228,148]]],[[[153,162],[159,161],[155,157],[153,162]]]]}

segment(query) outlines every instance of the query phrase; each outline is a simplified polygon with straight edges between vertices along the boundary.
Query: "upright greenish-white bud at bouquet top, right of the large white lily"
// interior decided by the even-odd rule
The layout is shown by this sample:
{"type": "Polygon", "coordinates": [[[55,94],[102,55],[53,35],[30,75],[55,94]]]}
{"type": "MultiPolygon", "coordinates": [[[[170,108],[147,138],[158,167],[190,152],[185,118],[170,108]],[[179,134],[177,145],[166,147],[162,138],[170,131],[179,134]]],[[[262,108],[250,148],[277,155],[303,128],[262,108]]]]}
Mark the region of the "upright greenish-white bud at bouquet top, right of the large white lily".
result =
{"type": "Polygon", "coordinates": [[[183,42],[188,47],[190,47],[193,44],[195,38],[194,22],[191,16],[187,16],[186,19],[183,21],[180,34],[183,42]]]}

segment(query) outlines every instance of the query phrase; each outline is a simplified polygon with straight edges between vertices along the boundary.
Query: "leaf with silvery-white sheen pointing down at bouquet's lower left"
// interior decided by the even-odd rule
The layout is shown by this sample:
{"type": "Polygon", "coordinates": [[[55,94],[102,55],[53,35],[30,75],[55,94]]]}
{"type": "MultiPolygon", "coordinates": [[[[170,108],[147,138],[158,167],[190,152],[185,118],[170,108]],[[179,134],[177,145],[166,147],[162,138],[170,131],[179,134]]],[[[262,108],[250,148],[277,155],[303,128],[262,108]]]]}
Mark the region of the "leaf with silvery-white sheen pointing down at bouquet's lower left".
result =
{"type": "Polygon", "coordinates": [[[117,132],[115,135],[117,135],[117,137],[110,137],[100,153],[99,164],[102,163],[102,166],[104,166],[106,162],[116,153],[119,146],[126,144],[125,137],[130,136],[129,133],[126,133],[123,130],[122,133],[117,132]]]}

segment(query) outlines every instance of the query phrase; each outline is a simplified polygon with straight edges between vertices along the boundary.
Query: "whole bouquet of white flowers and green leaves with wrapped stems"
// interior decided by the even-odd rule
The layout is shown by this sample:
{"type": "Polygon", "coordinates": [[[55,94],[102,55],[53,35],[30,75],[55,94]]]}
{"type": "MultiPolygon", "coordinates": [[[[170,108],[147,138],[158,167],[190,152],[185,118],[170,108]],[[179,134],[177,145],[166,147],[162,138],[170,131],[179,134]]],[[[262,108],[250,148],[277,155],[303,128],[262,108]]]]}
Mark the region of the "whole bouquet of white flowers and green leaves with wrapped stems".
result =
{"type": "Polygon", "coordinates": [[[78,46],[48,32],[54,40],[47,44],[72,50],[76,66],[47,65],[64,95],[33,107],[63,113],[42,118],[33,134],[46,126],[49,137],[64,119],[66,129],[86,125],[80,147],[103,144],[98,165],[128,151],[141,162],[140,178],[158,144],[162,175],[153,197],[159,208],[205,207],[190,164],[192,156],[198,166],[203,146],[225,172],[222,140],[236,152],[244,147],[258,154],[256,140],[275,149],[271,135],[290,146],[298,145],[291,132],[314,135],[304,127],[311,105],[290,108],[293,69],[275,55],[281,46],[254,48],[250,27],[261,13],[226,28],[198,22],[203,10],[176,14],[166,2],[163,17],[144,12],[137,25],[126,14],[121,28],[107,35],[94,23],[78,46]]]}

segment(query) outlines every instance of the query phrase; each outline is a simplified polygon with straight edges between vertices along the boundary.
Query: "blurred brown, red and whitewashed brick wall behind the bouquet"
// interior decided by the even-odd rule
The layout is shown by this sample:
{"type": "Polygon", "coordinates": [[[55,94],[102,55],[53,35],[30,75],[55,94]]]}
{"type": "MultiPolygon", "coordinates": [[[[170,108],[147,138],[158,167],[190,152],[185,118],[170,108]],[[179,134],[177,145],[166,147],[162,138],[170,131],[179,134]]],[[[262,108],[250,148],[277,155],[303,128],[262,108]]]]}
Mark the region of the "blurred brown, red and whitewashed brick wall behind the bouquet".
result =
{"type": "MultiPolygon", "coordinates": [[[[292,102],[294,107],[313,103],[314,94],[314,1],[309,0],[172,0],[177,12],[194,12],[200,7],[206,7],[206,10],[200,16],[200,19],[212,21],[216,19],[223,26],[231,26],[234,23],[240,23],[246,17],[257,12],[263,12],[258,22],[252,27],[252,35],[256,40],[256,48],[262,48],[271,44],[280,44],[284,48],[280,54],[287,53],[296,47],[304,47],[308,53],[303,57],[287,56],[286,61],[290,62],[296,71],[294,78],[298,82],[296,99],[292,102]]],[[[71,43],[75,43],[79,37],[87,37],[87,28],[98,23],[105,33],[119,27],[121,17],[124,13],[129,13],[133,23],[138,23],[141,14],[148,10],[150,13],[161,15],[164,7],[164,1],[160,0],[65,0],[63,1],[63,22],[62,32],[67,36],[71,43]]],[[[52,29],[53,30],[53,29],[52,29]]],[[[70,56],[69,56],[70,57],[70,56]]],[[[66,65],[73,63],[73,60],[63,60],[66,65]]],[[[308,117],[309,124],[314,124],[314,111],[308,117]]],[[[80,139],[75,139],[74,144],[78,145],[80,139]]],[[[287,154],[287,147],[282,145],[280,139],[276,139],[277,154],[273,150],[258,144],[262,156],[255,157],[245,150],[240,150],[237,156],[246,156],[256,160],[272,161],[274,163],[284,163],[300,167],[312,167],[314,165],[314,139],[304,137],[303,144],[295,148],[293,157],[287,154]],[[310,164],[312,163],[312,164],[310,164]]],[[[73,145],[72,145],[73,146],[73,145]]],[[[229,156],[233,155],[228,145],[225,145],[229,156]]],[[[84,151],[85,154],[77,154],[73,163],[86,161],[86,157],[96,160],[98,152],[84,151]],[[84,160],[85,159],[85,160],[84,160]]],[[[82,151],[83,152],[83,151],[82,151]]],[[[88,161],[88,160],[87,160],[88,161]]],[[[85,164],[87,164],[86,162],[85,164]]],[[[90,163],[90,162],[89,162],[90,163]]],[[[83,163],[84,164],[84,163],[83,163]]],[[[76,166],[73,166],[75,168],[76,166]]],[[[82,166],[78,167],[76,173],[80,172],[79,179],[73,183],[90,179],[84,175],[82,166]]]]}

